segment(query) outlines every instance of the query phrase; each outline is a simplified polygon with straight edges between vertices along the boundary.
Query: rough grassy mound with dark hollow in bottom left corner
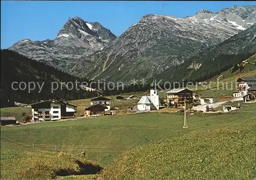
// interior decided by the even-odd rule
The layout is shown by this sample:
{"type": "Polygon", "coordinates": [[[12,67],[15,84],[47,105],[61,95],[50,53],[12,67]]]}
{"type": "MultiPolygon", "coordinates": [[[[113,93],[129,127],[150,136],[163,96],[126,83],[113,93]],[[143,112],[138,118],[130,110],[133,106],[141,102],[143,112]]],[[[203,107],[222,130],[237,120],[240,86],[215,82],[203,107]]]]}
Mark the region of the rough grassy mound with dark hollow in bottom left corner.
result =
{"type": "MultiPolygon", "coordinates": [[[[3,149],[1,149],[2,151],[3,149]]],[[[69,152],[28,151],[4,149],[1,152],[1,179],[42,180],[56,179],[69,174],[83,175],[92,179],[102,167],[83,157],[75,157],[69,152]]],[[[63,178],[63,179],[72,179],[63,178]]]]}

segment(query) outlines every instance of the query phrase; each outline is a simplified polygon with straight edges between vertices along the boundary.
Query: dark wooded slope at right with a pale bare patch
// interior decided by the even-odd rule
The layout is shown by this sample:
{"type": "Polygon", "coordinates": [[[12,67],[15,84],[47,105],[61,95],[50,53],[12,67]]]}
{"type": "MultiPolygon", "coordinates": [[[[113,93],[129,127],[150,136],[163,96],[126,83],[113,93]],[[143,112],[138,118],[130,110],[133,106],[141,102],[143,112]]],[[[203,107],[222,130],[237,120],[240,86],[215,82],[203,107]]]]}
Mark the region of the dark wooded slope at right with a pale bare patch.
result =
{"type": "Polygon", "coordinates": [[[256,53],[256,24],[157,75],[165,81],[205,81],[256,53]],[[170,75],[171,74],[171,75],[170,75]]]}

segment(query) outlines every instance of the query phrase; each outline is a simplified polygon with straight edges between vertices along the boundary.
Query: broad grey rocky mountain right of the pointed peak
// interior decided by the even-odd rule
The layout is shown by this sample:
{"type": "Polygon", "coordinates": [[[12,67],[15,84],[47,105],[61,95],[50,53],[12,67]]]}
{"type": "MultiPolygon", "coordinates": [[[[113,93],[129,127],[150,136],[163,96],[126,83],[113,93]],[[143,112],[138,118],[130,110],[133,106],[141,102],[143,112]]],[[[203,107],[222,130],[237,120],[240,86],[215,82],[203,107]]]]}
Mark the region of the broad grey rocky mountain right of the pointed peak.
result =
{"type": "Polygon", "coordinates": [[[244,31],[254,15],[255,6],[201,10],[185,18],[148,14],[69,72],[107,81],[147,79],[244,31]]]}

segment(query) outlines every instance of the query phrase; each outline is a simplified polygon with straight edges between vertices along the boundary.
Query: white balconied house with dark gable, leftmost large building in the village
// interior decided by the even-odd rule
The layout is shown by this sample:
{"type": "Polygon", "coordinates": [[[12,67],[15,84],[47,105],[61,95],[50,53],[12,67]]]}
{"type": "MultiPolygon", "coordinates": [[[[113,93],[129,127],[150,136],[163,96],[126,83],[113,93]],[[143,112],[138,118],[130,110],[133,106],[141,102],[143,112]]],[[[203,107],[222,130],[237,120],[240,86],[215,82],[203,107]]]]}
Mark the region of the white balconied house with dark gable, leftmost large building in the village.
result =
{"type": "Polygon", "coordinates": [[[60,120],[74,116],[76,106],[63,101],[43,101],[31,105],[32,121],[60,120]]]}

